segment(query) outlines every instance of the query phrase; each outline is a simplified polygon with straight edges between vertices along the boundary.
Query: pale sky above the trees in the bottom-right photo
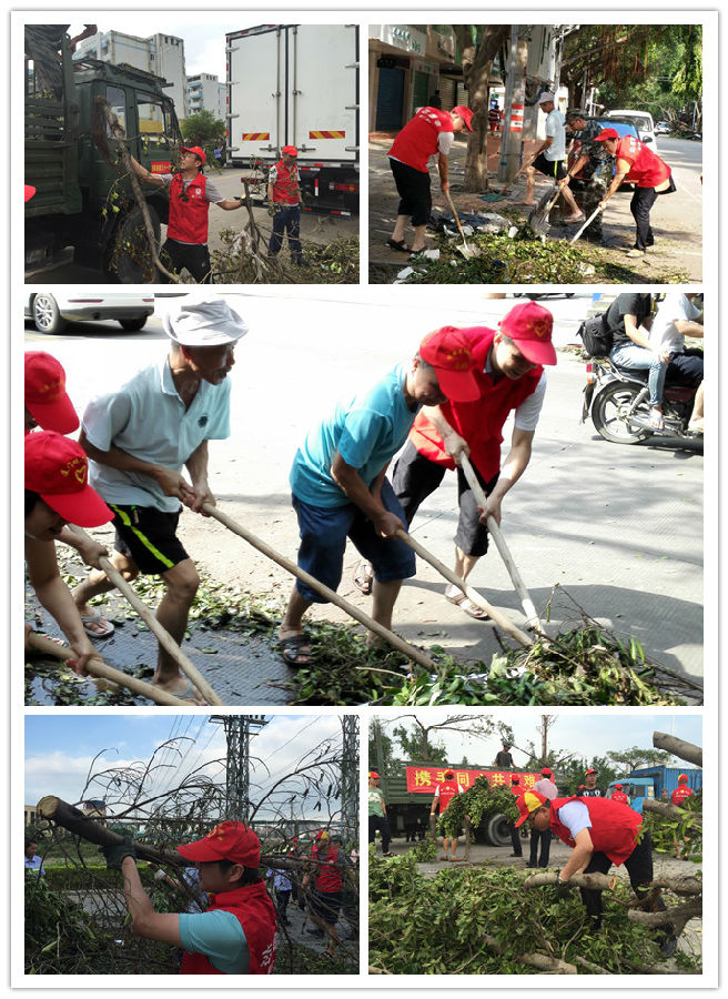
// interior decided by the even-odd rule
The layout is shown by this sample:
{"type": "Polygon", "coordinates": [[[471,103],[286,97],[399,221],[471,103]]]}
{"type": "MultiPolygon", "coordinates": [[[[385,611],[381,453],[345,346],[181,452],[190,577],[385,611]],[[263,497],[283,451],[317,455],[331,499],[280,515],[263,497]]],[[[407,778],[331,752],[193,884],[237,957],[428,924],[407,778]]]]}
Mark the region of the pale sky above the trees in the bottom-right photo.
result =
{"type": "MultiPolygon", "coordinates": [[[[427,713],[427,717],[439,722],[448,716],[467,714],[469,713],[465,708],[459,710],[457,708],[449,710],[433,708],[427,713]]],[[[414,724],[413,719],[404,717],[405,715],[405,712],[396,712],[388,717],[401,717],[404,720],[397,724],[411,727],[414,724]]],[[[576,757],[587,761],[594,756],[606,756],[608,750],[617,751],[629,749],[633,746],[651,749],[654,731],[665,731],[697,746],[702,745],[702,723],[699,715],[651,715],[644,708],[635,710],[607,708],[606,713],[562,712],[557,718],[556,724],[549,729],[549,748],[560,753],[574,753],[576,757]]],[[[540,749],[540,735],[536,730],[540,724],[540,713],[529,712],[525,708],[514,712],[503,710],[498,712],[497,719],[506,722],[513,727],[515,736],[515,746],[510,750],[513,761],[516,767],[524,766],[528,757],[523,750],[527,749],[528,743],[535,743],[536,749],[540,749]]],[[[432,722],[427,724],[432,724],[432,722]]],[[[396,726],[386,725],[384,731],[391,733],[393,727],[396,726]]],[[[434,735],[445,744],[448,761],[453,765],[466,756],[468,761],[474,765],[492,766],[496,753],[501,749],[497,729],[496,735],[487,739],[455,733],[435,733],[434,735]]],[[[685,766],[685,764],[676,761],[675,766],[685,766]]]]}

